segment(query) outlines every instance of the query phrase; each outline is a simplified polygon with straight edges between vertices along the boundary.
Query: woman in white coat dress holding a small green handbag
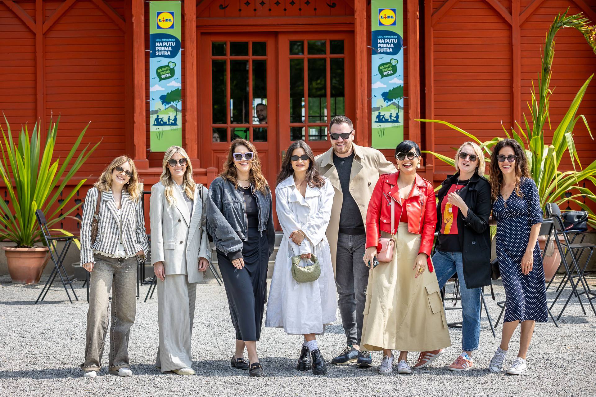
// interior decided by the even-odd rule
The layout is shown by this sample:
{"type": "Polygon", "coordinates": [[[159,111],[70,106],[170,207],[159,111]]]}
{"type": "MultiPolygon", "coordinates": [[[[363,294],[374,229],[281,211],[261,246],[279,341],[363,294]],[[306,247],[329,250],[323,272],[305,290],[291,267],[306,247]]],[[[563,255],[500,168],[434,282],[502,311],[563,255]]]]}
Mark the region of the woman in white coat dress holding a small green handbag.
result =
{"type": "MultiPolygon", "coordinates": [[[[266,327],[283,328],[288,335],[303,335],[296,370],[327,373],[316,335],[336,320],[336,287],[325,232],[333,205],[333,186],[315,168],[315,157],[303,140],[291,143],[281,164],[275,188],[275,209],[284,237],[275,257],[266,327]],[[306,261],[315,255],[321,267],[318,279],[293,279],[292,257],[306,261]]],[[[304,265],[304,264],[300,264],[304,265]]]]}

